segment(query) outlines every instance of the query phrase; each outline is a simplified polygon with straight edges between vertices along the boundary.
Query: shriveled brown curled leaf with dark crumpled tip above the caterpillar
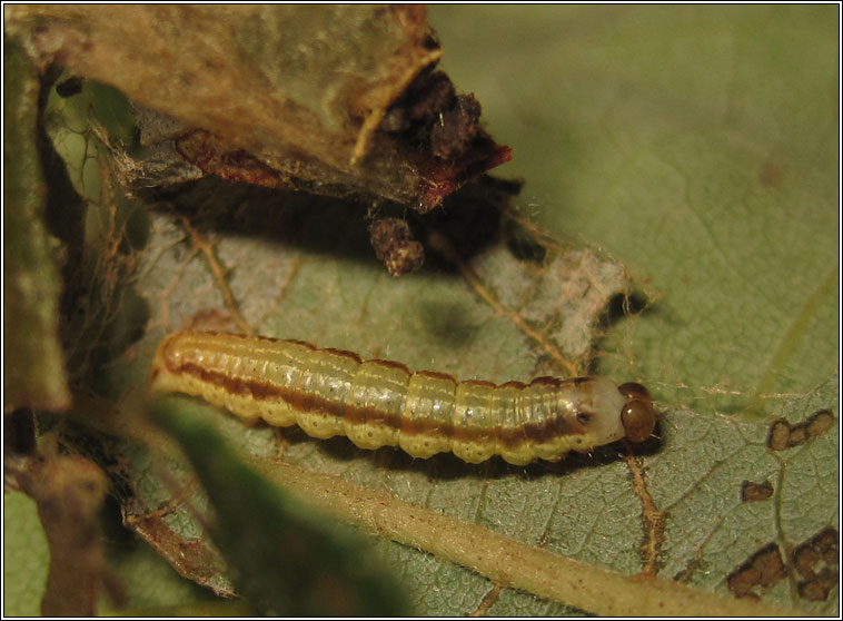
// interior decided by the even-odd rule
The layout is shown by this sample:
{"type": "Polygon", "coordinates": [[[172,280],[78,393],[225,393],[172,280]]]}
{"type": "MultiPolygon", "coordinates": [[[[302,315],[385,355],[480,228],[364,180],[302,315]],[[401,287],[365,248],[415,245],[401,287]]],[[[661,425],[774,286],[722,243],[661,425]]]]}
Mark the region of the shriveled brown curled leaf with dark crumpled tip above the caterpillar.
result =
{"type": "Polygon", "coordinates": [[[170,156],[204,174],[424,211],[510,157],[473,96],[429,73],[442,50],[419,7],[30,6],[7,28],[180,119],[192,139],[173,132],[170,156]]]}

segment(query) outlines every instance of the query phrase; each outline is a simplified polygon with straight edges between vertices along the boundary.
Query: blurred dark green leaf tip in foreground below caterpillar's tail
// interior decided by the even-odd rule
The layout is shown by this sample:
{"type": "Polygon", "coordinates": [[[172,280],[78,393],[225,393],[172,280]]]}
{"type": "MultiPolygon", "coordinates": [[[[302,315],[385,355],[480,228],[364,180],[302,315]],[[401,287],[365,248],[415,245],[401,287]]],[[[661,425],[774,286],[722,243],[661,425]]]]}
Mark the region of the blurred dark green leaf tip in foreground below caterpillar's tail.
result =
{"type": "Polygon", "coordinates": [[[238,591],[269,615],[395,615],[398,589],[371,550],[242,464],[185,400],[156,406],[189,456],[215,509],[211,536],[238,591]]]}

